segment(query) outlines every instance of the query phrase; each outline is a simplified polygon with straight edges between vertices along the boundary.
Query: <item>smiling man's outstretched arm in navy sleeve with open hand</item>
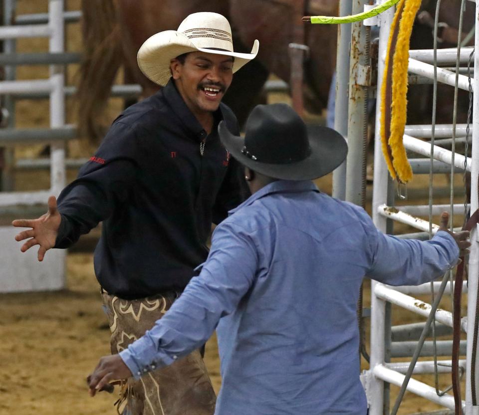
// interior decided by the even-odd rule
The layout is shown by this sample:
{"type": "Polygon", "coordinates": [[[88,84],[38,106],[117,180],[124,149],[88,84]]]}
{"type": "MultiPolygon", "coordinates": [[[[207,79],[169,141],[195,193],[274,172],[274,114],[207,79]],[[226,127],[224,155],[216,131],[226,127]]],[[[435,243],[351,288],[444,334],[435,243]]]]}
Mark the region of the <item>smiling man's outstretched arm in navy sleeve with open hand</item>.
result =
{"type": "Polygon", "coordinates": [[[12,222],[13,226],[31,228],[15,237],[17,241],[28,239],[21,251],[40,245],[38,260],[42,261],[48,249],[69,247],[123,206],[136,180],[137,142],[128,126],[114,124],[96,156],[80,169],[78,178],[61,192],[58,201],[48,199],[47,213],[12,222]]]}

